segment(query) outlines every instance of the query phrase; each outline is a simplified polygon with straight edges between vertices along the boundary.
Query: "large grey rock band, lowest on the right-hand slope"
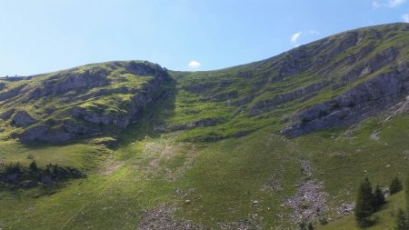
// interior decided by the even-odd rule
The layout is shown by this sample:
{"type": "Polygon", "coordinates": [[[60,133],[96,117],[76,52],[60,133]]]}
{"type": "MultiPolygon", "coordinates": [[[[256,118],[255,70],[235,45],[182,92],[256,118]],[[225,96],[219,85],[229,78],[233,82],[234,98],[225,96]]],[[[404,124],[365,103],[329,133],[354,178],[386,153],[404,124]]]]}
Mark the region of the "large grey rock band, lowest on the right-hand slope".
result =
{"type": "Polygon", "coordinates": [[[326,128],[352,125],[395,105],[409,92],[408,65],[401,64],[397,70],[356,85],[332,101],[297,112],[292,124],[281,130],[281,133],[298,136],[326,128]]]}

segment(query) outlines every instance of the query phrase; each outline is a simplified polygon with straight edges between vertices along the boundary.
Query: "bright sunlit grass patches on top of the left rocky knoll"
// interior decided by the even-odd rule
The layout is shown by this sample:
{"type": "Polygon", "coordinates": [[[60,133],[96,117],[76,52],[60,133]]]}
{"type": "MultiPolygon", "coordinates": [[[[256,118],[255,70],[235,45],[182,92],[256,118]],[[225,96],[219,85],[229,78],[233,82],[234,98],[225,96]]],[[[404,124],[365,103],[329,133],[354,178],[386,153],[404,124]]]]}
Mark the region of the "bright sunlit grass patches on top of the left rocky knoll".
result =
{"type": "MultiPolygon", "coordinates": [[[[54,121],[55,124],[63,123],[65,120],[76,120],[70,115],[73,107],[82,107],[100,115],[126,115],[131,105],[131,97],[136,92],[145,93],[145,87],[152,84],[155,77],[151,75],[133,75],[126,71],[126,66],[131,62],[108,62],[93,65],[83,65],[72,69],[55,73],[37,75],[29,80],[8,82],[0,79],[0,83],[5,84],[5,90],[25,85],[23,92],[12,98],[0,102],[0,115],[14,108],[15,111],[25,110],[29,115],[38,120],[38,124],[45,125],[47,121],[54,121]],[[108,85],[100,85],[92,88],[79,87],[64,94],[54,96],[43,96],[40,98],[29,98],[29,93],[42,89],[45,85],[62,85],[69,77],[82,75],[85,72],[95,74],[104,73],[99,76],[103,80],[109,81],[108,85]],[[46,83],[46,84],[45,84],[46,83]],[[105,93],[101,93],[105,92],[105,93]],[[73,100],[74,99],[74,100],[73,100]],[[27,103],[29,101],[29,103],[27,103]],[[49,111],[53,111],[51,114],[49,111]]],[[[145,65],[153,65],[145,62],[145,65]]],[[[96,81],[102,81],[97,79],[96,81]]],[[[81,85],[81,83],[80,83],[81,85]]],[[[41,91],[41,90],[40,90],[41,91]]],[[[155,97],[155,95],[152,95],[155,97]]],[[[88,124],[89,125],[89,124],[88,124]]],[[[11,125],[10,119],[0,119],[0,139],[10,139],[12,134],[21,134],[26,128],[11,125]]],[[[55,129],[60,128],[54,125],[55,129]]]]}

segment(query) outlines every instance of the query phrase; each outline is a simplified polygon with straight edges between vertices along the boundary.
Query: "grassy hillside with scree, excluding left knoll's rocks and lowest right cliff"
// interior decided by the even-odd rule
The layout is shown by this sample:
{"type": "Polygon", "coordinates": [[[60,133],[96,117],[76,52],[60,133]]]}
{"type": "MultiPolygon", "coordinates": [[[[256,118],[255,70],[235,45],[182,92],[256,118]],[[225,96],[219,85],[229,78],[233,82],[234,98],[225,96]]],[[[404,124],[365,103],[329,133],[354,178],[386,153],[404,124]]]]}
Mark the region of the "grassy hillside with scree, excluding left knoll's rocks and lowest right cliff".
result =
{"type": "MultiPolygon", "coordinates": [[[[140,110],[122,132],[80,136],[64,145],[23,145],[9,135],[14,132],[10,121],[0,120],[4,167],[28,165],[34,157],[40,167],[73,166],[86,175],[30,189],[0,183],[0,228],[295,229],[301,219],[314,226],[325,219],[329,224],[318,229],[354,229],[354,216],[342,210],[354,203],[364,176],[387,186],[395,175],[407,175],[407,92],[354,125],[296,138],[280,130],[297,111],[334,100],[406,64],[408,33],[404,24],[381,25],[248,65],[170,71],[173,80],[158,91],[165,94],[140,110]],[[399,52],[391,51],[388,62],[378,60],[391,47],[399,52]],[[103,137],[121,142],[112,147],[100,141],[103,137]]],[[[152,77],[119,81],[111,76],[112,82],[136,90],[152,77]]],[[[118,105],[105,99],[93,97],[81,106],[98,108],[102,100],[109,107],[104,111],[111,111],[118,105]]],[[[65,105],[72,106],[55,106],[65,105]]],[[[376,214],[374,229],[390,225],[391,212],[403,199],[399,194],[388,200],[376,214]]]]}

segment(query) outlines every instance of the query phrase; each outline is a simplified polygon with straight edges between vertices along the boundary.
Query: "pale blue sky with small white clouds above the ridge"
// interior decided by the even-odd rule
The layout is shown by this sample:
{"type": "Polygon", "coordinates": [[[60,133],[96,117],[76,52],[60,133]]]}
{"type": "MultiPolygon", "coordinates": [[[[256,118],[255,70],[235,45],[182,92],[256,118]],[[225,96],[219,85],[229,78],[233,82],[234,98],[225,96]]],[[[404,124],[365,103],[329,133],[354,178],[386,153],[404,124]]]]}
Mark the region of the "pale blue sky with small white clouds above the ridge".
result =
{"type": "Polygon", "coordinates": [[[0,75],[134,59],[218,69],[408,14],[409,0],[0,0],[0,75]]]}

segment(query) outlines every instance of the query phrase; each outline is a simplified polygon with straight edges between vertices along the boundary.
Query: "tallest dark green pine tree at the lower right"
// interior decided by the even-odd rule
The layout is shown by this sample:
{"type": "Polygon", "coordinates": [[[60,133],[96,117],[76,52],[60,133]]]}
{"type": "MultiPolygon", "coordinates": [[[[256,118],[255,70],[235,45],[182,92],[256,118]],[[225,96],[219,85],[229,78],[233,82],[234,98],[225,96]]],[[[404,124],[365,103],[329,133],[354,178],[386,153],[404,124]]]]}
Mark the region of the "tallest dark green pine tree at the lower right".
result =
{"type": "Polygon", "coordinates": [[[355,219],[359,226],[371,225],[371,216],[374,213],[374,195],[368,177],[359,185],[355,205],[355,219]]]}

